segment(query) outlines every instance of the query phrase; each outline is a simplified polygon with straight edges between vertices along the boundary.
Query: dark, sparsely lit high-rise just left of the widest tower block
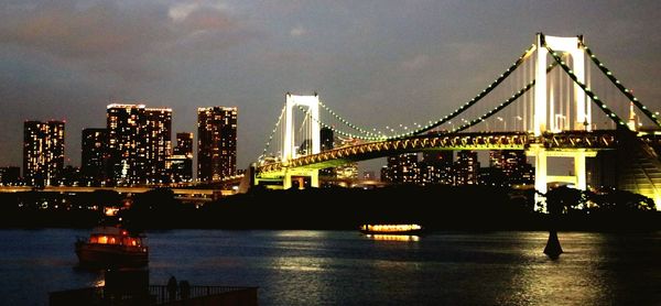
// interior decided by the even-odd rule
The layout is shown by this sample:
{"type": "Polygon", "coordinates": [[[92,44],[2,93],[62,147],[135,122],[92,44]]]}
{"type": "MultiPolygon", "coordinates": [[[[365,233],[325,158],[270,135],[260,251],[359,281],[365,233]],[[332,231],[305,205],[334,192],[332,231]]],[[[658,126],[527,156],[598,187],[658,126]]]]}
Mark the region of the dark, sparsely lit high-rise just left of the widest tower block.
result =
{"type": "Polygon", "coordinates": [[[85,185],[99,186],[108,178],[108,130],[84,129],[80,152],[80,175],[85,185]]]}

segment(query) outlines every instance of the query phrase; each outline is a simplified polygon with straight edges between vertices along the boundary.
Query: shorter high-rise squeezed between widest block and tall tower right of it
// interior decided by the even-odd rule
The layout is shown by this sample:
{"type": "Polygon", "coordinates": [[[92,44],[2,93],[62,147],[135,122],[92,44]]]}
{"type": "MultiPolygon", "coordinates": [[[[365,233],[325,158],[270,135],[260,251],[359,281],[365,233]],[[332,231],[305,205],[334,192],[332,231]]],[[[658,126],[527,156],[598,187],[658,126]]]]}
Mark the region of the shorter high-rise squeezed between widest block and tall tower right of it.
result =
{"type": "Polygon", "coordinates": [[[167,157],[171,182],[193,181],[193,133],[176,133],[176,146],[167,157]]]}

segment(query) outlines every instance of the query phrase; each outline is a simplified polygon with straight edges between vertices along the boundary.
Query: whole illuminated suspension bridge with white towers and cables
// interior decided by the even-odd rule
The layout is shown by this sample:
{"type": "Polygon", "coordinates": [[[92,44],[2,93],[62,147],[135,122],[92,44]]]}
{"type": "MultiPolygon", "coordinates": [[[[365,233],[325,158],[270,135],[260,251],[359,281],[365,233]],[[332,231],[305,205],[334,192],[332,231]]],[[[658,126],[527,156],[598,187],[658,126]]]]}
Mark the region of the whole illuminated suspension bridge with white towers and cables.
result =
{"type": "Polygon", "coordinates": [[[586,159],[610,154],[617,161],[615,187],[661,200],[659,116],[616,78],[582,35],[538,33],[484,90],[452,105],[458,107],[424,123],[370,129],[339,116],[316,94],[288,92],[253,164],[251,184],[286,189],[303,177],[318,187],[322,168],[409,152],[522,150],[534,159],[534,188],[541,193],[550,182],[585,190],[586,159]],[[328,147],[323,129],[349,141],[328,147]],[[549,175],[550,157],[572,159],[573,175],[549,175]]]}

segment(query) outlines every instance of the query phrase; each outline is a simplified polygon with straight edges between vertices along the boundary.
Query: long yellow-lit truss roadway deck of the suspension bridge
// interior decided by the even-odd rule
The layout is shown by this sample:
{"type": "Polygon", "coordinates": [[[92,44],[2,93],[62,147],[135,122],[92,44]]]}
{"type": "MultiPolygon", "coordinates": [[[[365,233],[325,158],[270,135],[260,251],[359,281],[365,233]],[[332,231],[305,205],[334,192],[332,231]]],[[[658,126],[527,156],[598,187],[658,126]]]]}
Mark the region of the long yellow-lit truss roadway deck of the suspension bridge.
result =
{"type": "Polygon", "coordinates": [[[544,133],[541,136],[525,132],[436,133],[337,147],[286,162],[264,164],[258,166],[256,172],[261,178],[277,177],[285,170],[319,170],[388,155],[434,150],[529,150],[532,145],[538,145],[548,151],[548,156],[564,156],[572,151],[614,149],[616,133],[615,130],[567,131],[544,133]]]}

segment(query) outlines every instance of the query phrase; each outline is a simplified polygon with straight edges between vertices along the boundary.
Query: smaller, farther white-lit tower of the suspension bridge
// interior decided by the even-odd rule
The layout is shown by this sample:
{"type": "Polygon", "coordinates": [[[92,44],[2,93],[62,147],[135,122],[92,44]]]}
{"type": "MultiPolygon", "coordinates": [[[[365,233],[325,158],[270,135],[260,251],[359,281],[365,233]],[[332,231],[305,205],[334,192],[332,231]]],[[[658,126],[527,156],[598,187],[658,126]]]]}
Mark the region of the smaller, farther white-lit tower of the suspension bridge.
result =
{"type": "MultiPolygon", "coordinates": [[[[314,94],[313,96],[297,96],[286,92],[285,95],[285,112],[284,112],[284,140],[282,149],[282,163],[286,164],[290,160],[299,157],[296,152],[296,142],[305,140],[296,140],[294,133],[294,108],[305,107],[307,108],[307,114],[310,116],[306,124],[308,131],[306,134],[310,135],[311,150],[306,154],[317,154],[322,151],[321,145],[321,121],[319,121],[319,96],[314,94]]],[[[286,171],[284,173],[283,188],[289,189],[292,187],[292,176],[310,177],[311,186],[319,186],[319,174],[318,170],[299,170],[295,173],[286,171]]]]}

